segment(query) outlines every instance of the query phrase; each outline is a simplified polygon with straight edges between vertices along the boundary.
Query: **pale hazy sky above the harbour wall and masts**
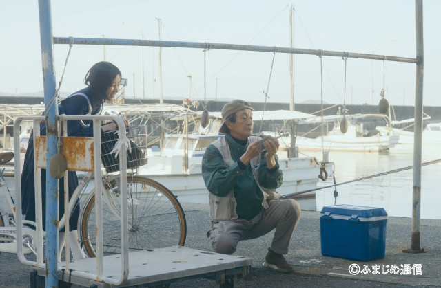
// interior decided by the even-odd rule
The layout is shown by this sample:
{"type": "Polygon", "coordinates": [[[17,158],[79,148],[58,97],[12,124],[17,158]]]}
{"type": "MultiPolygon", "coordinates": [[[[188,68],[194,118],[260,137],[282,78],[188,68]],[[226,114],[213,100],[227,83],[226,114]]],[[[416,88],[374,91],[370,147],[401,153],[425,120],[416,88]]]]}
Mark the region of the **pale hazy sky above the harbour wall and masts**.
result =
{"type": "MultiPolygon", "coordinates": [[[[289,47],[289,4],[294,5],[294,47],[340,52],[416,57],[415,4],[412,0],[309,0],[309,1],[166,1],[76,0],[52,1],[54,36],[85,38],[162,39],[289,47]],[[125,23],[125,24],[122,24],[125,23]],[[373,51],[373,49],[375,50],[373,51]]],[[[0,10],[0,95],[43,91],[39,11],[36,0],[3,1],[0,10]]],[[[424,105],[441,106],[441,1],[424,1],[424,105]]],[[[105,46],[105,60],[127,78],[127,98],[159,98],[158,47],[105,46]],[[142,62],[143,53],[143,62],[142,62]],[[144,80],[142,64],[144,63],[144,80]],[[153,85],[153,79],[156,79],[153,85]],[[144,85],[143,85],[144,82],[144,85]]],[[[68,45],[54,45],[57,81],[68,45]]],[[[205,53],[206,97],[241,98],[263,102],[272,53],[210,50],[205,53]]],[[[102,45],[74,45],[61,91],[85,87],[85,73],[103,60],[102,45]]],[[[323,58],[323,99],[345,101],[345,63],[340,57],[323,58]]],[[[164,98],[204,98],[202,49],[162,49],[164,98]]],[[[347,60],[347,104],[373,104],[380,100],[383,61],[347,60]]],[[[412,105],[416,67],[411,63],[385,63],[385,89],[395,105],[412,105]]],[[[276,54],[268,102],[289,102],[289,56],[276,54]]],[[[320,101],[320,59],[294,56],[294,101],[320,101]]]]}

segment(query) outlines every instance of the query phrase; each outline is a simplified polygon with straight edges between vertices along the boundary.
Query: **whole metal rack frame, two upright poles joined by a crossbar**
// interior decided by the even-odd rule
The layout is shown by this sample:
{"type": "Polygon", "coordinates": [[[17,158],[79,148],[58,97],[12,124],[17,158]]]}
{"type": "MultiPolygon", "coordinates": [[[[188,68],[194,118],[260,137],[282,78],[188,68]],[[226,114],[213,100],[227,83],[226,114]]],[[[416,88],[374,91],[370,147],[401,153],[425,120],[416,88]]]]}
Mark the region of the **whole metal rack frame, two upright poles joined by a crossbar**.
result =
{"type": "MultiPolygon", "coordinates": [[[[335,52],[314,49],[296,49],[287,47],[269,47],[254,45],[232,45],[218,43],[194,43],[176,41],[150,41],[150,40],[129,40],[129,39],[106,39],[106,38],[60,38],[52,37],[52,16],[50,0],[39,0],[39,22],[41,36],[41,58],[43,66],[43,84],[45,106],[49,109],[46,116],[48,126],[47,134],[47,168],[49,168],[50,158],[57,153],[57,103],[51,100],[55,91],[54,74],[54,44],[74,44],[74,45],[127,45],[127,46],[156,46],[156,47],[181,47],[196,49],[227,49],[244,50],[252,52],[273,52],[288,54],[309,54],[316,56],[337,56],[349,58],[362,58],[372,60],[398,61],[416,64],[416,100],[415,100],[415,142],[413,150],[413,225],[411,252],[420,252],[420,195],[421,195],[421,151],[422,151],[422,99],[423,99],[423,80],[424,80],[424,37],[423,37],[423,10],[422,0],[415,0],[416,14],[416,58],[403,58],[396,56],[382,56],[371,54],[360,54],[352,52],[335,52]],[[50,105],[50,107],[48,107],[50,105]]],[[[162,99],[161,99],[162,102],[162,99]]],[[[120,125],[123,126],[123,125],[120,125]]],[[[16,142],[17,143],[17,142],[16,142]]],[[[58,253],[58,189],[57,179],[47,174],[47,193],[46,203],[48,206],[46,217],[46,287],[58,287],[57,274],[57,253],[58,253]]],[[[19,181],[18,181],[19,183],[19,181]]],[[[97,193],[99,194],[99,193],[97,193]]]]}

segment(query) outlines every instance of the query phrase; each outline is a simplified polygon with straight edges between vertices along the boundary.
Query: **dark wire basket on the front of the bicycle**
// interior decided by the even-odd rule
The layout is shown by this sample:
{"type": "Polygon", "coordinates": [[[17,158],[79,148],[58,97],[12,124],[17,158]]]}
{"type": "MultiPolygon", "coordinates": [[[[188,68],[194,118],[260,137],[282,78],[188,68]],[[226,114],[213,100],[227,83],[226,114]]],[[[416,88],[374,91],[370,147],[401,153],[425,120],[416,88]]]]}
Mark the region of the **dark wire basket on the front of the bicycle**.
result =
{"type": "MultiPolygon", "coordinates": [[[[147,126],[127,127],[127,138],[130,147],[127,147],[127,169],[135,169],[147,164],[147,126]]],[[[118,131],[105,131],[101,135],[101,162],[107,173],[120,170],[119,155],[111,153],[119,140],[118,131]]]]}

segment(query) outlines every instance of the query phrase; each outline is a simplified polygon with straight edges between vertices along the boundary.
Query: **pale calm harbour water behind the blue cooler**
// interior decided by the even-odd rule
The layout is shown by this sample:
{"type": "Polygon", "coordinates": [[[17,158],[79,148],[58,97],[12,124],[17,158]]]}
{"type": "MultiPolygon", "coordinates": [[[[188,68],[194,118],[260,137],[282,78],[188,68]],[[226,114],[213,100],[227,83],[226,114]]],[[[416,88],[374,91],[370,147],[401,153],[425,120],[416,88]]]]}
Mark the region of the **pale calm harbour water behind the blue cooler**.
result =
{"type": "MultiPolygon", "coordinates": [[[[301,151],[300,151],[301,152],[301,151]]],[[[321,160],[321,153],[305,153],[321,160]]],[[[441,158],[438,145],[422,147],[422,162],[441,158]]],[[[396,145],[384,153],[330,152],[329,161],[335,163],[336,183],[351,181],[378,173],[413,165],[413,145],[396,145]]],[[[319,171],[317,171],[319,173],[319,171]]],[[[441,163],[422,167],[421,218],[441,219],[441,163]]],[[[319,183],[320,186],[330,185],[319,183]]],[[[334,198],[334,188],[316,192],[316,207],[305,205],[305,210],[322,210],[323,206],[350,204],[384,208],[389,216],[412,217],[413,169],[355,181],[337,186],[338,197],[334,198]],[[314,209],[315,208],[315,209],[314,209]]],[[[300,200],[302,205],[302,200],[300,200]]]]}

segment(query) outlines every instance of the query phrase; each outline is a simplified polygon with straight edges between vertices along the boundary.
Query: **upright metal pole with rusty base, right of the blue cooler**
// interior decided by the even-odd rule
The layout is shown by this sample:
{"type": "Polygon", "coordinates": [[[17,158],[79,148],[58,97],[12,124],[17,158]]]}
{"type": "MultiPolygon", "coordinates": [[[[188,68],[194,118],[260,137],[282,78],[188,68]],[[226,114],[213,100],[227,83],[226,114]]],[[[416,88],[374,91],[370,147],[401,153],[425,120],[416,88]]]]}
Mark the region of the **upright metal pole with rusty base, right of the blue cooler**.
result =
{"type": "Polygon", "coordinates": [[[422,23],[422,0],[415,0],[416,21],[416,91],[415,91],[415,132],[413,142],[413,200],[412,200],[412,240],[407,253],[424,252],[420,242],[421,213],[421,153],[422,153],[422,91],[424,77],[424,37],[422,23]]]}

